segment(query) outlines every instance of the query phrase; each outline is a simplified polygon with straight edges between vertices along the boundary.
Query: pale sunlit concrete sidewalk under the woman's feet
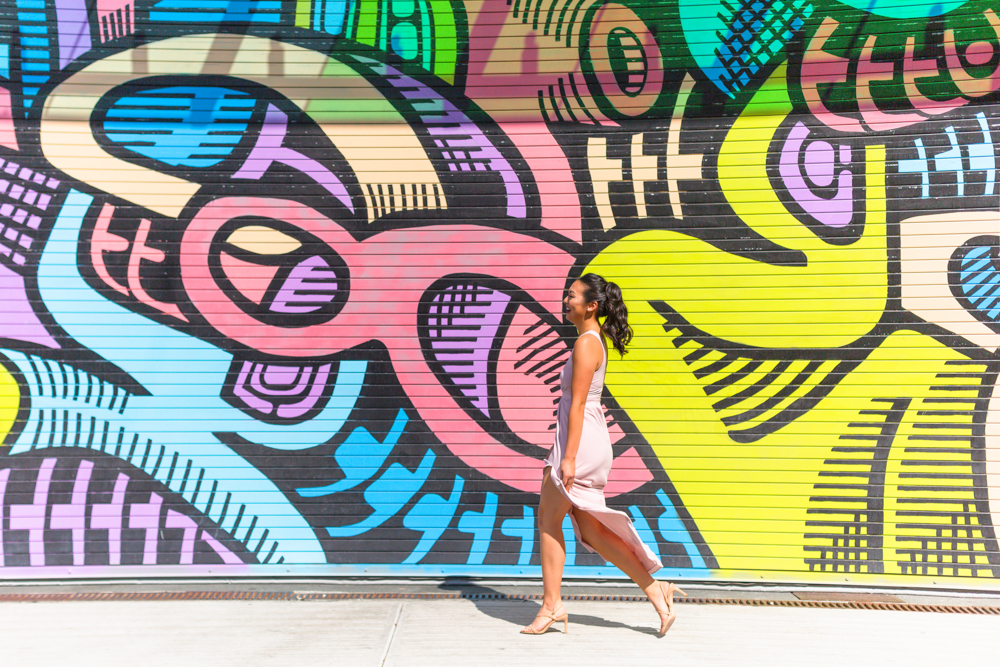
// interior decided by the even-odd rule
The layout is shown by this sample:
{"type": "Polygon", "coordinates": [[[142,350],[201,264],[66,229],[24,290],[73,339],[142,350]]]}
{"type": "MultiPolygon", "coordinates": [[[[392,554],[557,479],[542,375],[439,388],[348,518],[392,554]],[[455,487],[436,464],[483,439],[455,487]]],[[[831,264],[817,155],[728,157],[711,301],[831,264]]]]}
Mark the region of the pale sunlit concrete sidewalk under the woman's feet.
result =
{"type": "MultiPolygon", "coordinates": [[[[997,600],[979,603],[995,606],[997,600]]],[[[655,634],[657,616],[645,603],[573,601],[567,603],[568,635],[554,630],[541,637],[519,635],[538,605],[468,599],[5,602],[0,603],[0,662],[5,667],[1000,663],[1000,616],[993,615],[681,604],[677,622],[661,639],[655,634]]]]}

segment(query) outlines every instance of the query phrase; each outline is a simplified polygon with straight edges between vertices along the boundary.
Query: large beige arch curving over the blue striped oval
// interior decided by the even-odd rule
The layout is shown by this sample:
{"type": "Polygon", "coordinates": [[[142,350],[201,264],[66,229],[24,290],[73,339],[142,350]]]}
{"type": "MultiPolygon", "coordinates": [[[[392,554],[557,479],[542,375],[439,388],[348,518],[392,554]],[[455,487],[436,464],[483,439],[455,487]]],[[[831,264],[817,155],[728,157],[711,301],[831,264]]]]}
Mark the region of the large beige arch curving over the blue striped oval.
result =
{"type": "Polygon", "coordinates": [[[371,126],[359,132],[359,126],[314,120],[341,149],[362,184],[367,180],[440,186],[419,139],[377,88],[341,62],[286,43],[280,49],[284,75],[267,76],[266,54],[271,53],[272,43],[251,36],[188,35],[99,60],[56,87],[46,100],[40,132],[42,152],[56,168],[88,185],[162,215],[180,215],[200,185],[116,158],[101,148],[90,131],[97,103],[114,87],[135,78],[133,62],[139,57],[147,63],[149,76],[194,76],[205,71],[228,74],[273,88],[307,114],[309,102],[326,91],[336,93],[334,99],[381,101],[384,104],[379,105],[379,113],[398,121],[380,126],[382,134],[372,132],[371,126]],[[225,47],[225,52],[213,52],[213,46],[225,47]],[[236,53],[246,55],[246,60],[234,59],[236,53]],[[264,60],[249,54],[264,54],[264,60]],[[380,151],[384,157],[379,157],[380,151]]]}

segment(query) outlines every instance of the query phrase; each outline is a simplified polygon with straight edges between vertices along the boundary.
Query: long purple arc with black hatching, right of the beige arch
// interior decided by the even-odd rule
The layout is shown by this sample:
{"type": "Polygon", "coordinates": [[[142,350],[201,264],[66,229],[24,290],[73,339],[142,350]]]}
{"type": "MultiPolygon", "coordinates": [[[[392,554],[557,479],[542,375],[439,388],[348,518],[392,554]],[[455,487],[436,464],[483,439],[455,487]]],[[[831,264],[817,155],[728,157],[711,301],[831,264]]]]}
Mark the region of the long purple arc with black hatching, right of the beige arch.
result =
{"type": "MultiPolygon", "coordinates": [[[[458,135],[453,139],[435,141],[443,141],[448,148],[470,149],[468,156],[472,163],[480,162],[488,165],[490,171],[500,174],[500,178],[503,179],[504,189],[507,192],[507,215],[512,218],[527,217],[527,200],[517,172],[465,113],[432,88],[406,76],[391,65],[364,56],[353,56],[353,58],[370,65],[372,71],[386,77],[390,84],[399,89],[403,97],[411,100],[413,109],[420,114],[420,119],[427,125],[427,132],[432,137],[458,135]],[[444,127],[435,127],[441,125],[444,127]]],[[[454,171],[451,165],[449,168],[454,171]]],[[[464,171],[470,170],[469,163],[461,164],[459,168],[464,171]]]]}

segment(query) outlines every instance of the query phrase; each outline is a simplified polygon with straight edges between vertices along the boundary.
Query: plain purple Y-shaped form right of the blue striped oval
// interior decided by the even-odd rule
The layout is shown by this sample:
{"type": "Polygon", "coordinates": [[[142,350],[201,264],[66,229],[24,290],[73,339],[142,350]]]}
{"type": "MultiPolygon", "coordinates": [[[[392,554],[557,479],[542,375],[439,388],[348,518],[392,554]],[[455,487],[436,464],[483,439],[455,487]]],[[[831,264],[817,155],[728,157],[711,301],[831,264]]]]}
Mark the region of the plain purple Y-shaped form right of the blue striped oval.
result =
{"type": "Polygon", "coordinates": [[[257,136],[257,143],[254,144],[243,166],[233,174],[233,178],[257,180],[264,175],[272,163],[278,162],[301,171],[322,185],[327,192],[336,197],[351,213],[354,213],[351,196],[336,174],[311,157],[281,145],[285,141],[287,132],[288,116],[278,107],[268,104],[267,113],[264,114],[264,124],[257,136]]]}

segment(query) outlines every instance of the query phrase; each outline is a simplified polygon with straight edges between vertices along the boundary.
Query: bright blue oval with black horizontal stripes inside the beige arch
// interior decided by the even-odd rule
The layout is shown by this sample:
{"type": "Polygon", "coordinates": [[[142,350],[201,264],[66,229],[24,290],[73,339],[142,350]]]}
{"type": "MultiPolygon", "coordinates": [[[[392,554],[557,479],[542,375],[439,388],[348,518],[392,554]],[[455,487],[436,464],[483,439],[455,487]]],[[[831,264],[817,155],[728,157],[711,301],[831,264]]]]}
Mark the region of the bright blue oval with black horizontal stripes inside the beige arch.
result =
{"type": "Polygon", "coordinates": [[[212,167],[239,144],[256,103],[228,88],[158,88],[116,100],[105,116],[104,132],[124,148],[164,164],[212,167]]]}

